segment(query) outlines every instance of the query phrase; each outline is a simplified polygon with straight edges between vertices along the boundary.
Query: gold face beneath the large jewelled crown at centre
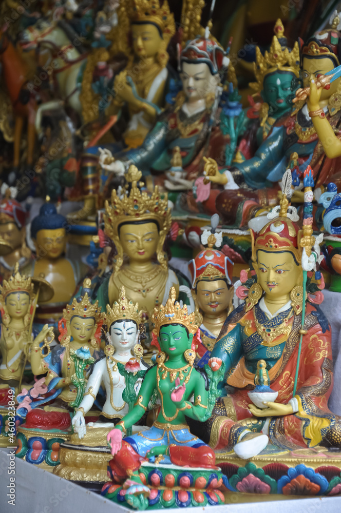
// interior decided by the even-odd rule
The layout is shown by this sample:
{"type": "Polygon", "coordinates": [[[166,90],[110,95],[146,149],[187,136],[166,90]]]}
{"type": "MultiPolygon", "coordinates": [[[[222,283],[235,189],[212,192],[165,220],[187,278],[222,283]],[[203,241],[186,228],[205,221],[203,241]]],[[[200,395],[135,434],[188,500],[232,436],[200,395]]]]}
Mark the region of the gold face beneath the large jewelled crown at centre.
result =
{"type": "Polygon", "coordinates": [[[158,227],[155,223],[123,225],[120,228],[120,242],[130,260],[147,262],[158,246],[158,227]]]}

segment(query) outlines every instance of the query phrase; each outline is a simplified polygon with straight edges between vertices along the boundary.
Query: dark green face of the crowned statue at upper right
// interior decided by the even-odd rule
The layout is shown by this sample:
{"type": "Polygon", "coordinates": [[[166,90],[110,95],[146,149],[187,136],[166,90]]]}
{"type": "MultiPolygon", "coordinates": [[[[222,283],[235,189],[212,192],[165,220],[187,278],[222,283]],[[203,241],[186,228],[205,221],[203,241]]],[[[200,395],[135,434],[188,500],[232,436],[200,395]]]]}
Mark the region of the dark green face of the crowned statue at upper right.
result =
{"type": "Polygon", "coordinates": [[[294,73],[277,71],[264,77],[261,96],[264,102],[269,104],[273,113],[288,109],[287,99],[291,93],[291,82],[294,77],[294,73]]]}

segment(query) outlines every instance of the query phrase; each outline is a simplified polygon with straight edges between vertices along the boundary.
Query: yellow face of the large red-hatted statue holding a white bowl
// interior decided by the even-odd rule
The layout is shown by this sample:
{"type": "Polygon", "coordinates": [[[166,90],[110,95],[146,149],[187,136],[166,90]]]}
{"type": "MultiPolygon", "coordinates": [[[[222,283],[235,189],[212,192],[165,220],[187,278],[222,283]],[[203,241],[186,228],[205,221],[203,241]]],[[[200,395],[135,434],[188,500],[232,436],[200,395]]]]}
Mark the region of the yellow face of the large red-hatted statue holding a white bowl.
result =
{"type": "Polygon", "coordinates": [[[280,253],[257,251],[257,263],[254,264],[257,283],[266,295],[280,298],[289,294],[296,285],[302,283],[302,268],[295,263],[289,251],[280,253]]]}

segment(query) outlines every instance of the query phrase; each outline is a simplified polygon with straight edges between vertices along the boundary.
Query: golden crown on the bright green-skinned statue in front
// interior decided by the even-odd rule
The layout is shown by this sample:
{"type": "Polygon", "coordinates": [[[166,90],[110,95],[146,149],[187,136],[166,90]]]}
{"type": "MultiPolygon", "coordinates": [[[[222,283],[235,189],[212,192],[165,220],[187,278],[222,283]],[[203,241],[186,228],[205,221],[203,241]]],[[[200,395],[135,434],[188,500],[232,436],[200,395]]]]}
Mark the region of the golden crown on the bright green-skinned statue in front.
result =
{"type": "Polygon", "coordinates": [[[190,333],[196,333],[198,326],[195,323],[195,313],[188,314],[187,305],[181,308],[180,303],[176,301],[175,287],[169,290],[169,296],[165,306],[160,305],[154,308],[151,321],[154,323],[154,333],[159,334],[161,326],[165,324],[182,324],[190,333]]]}

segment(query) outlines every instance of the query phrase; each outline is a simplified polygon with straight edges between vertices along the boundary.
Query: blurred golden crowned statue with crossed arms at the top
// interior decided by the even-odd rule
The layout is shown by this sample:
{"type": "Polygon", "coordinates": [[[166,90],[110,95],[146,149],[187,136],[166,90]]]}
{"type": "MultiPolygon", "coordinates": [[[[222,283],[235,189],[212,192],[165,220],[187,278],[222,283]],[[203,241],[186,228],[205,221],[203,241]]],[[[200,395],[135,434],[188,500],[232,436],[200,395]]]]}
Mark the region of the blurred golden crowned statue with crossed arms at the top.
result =
{"type": "Polygon", "coordinates": [[[175,33],[174,16],[167,0],[127,0],[117,11],[118,23],[107,35],[112,46],[90,55],[83,81],[84,117],[90,121],[96,96],[91,89],[94,67],[116,54],[124,54],[127,65],[113,80],[113,101],[107,109],[115,114],[127,105],[128,126],[123,140],[128,147],[142,144],[156,115],[165,105],[169,80],[167,46],[175,33]]]}

